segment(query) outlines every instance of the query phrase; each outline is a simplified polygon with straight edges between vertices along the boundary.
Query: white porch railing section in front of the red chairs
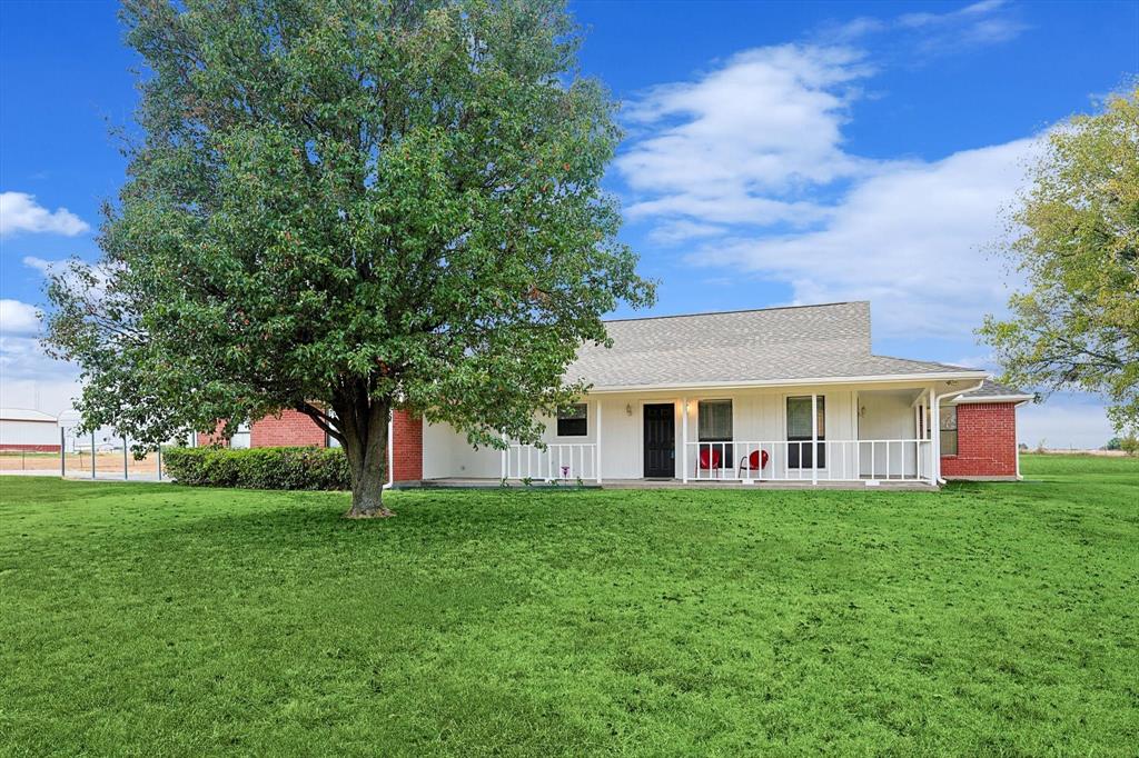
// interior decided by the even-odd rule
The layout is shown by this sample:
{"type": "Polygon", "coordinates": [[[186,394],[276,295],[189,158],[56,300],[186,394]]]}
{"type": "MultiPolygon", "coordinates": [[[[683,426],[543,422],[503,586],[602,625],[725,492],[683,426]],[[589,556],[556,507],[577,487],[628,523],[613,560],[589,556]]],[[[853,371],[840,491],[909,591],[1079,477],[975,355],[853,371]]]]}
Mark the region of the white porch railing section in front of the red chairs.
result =
{"type": "Polygon", "coordinates": [[[933,470],[929,439],[687,443],[685,452],[686,481],[928,481],[933,470]]]}

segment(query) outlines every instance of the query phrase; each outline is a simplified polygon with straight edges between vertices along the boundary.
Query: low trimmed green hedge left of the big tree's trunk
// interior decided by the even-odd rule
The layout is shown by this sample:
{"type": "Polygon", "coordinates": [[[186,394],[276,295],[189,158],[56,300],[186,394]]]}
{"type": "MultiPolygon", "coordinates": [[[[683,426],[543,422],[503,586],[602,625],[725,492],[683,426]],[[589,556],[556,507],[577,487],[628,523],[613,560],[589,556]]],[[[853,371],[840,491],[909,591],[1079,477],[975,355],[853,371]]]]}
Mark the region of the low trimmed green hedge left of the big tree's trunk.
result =
{"type": "Polygon", "coordinates": [[[246,489],[351,489],[344,451],[337,447],[172,447],[166,471],[179,484],[246,489]]]}

